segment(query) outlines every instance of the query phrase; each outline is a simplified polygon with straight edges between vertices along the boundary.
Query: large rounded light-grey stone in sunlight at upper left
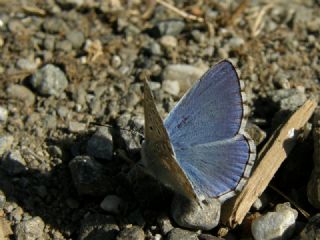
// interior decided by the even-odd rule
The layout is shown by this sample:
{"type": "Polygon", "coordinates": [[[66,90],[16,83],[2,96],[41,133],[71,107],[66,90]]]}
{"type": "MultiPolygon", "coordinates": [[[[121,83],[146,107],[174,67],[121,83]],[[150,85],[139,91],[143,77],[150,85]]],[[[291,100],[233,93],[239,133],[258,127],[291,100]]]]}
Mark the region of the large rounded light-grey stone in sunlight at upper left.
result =
{"type": "Polygon", "coordinates": [[[56,97],[59,97],[68,86],[64,72],[52,64],[47,64],[35,72],[30,83],[39,94],[56,97]]]}

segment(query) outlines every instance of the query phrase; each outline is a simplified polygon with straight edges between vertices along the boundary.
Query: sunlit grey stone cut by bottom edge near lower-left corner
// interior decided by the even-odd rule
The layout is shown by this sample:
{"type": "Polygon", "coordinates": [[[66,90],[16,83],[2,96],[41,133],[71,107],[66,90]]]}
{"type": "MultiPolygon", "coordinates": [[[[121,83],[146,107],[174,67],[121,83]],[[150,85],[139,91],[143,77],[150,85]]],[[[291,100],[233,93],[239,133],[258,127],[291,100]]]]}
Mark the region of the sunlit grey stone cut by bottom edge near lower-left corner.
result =
{"type": "Polygon", "coordinates": [[[15,228],[15,237],[17,240],[42,239],[44,231],[44,222],[40,217],[34,217],[17,224],[15,228]]]}

